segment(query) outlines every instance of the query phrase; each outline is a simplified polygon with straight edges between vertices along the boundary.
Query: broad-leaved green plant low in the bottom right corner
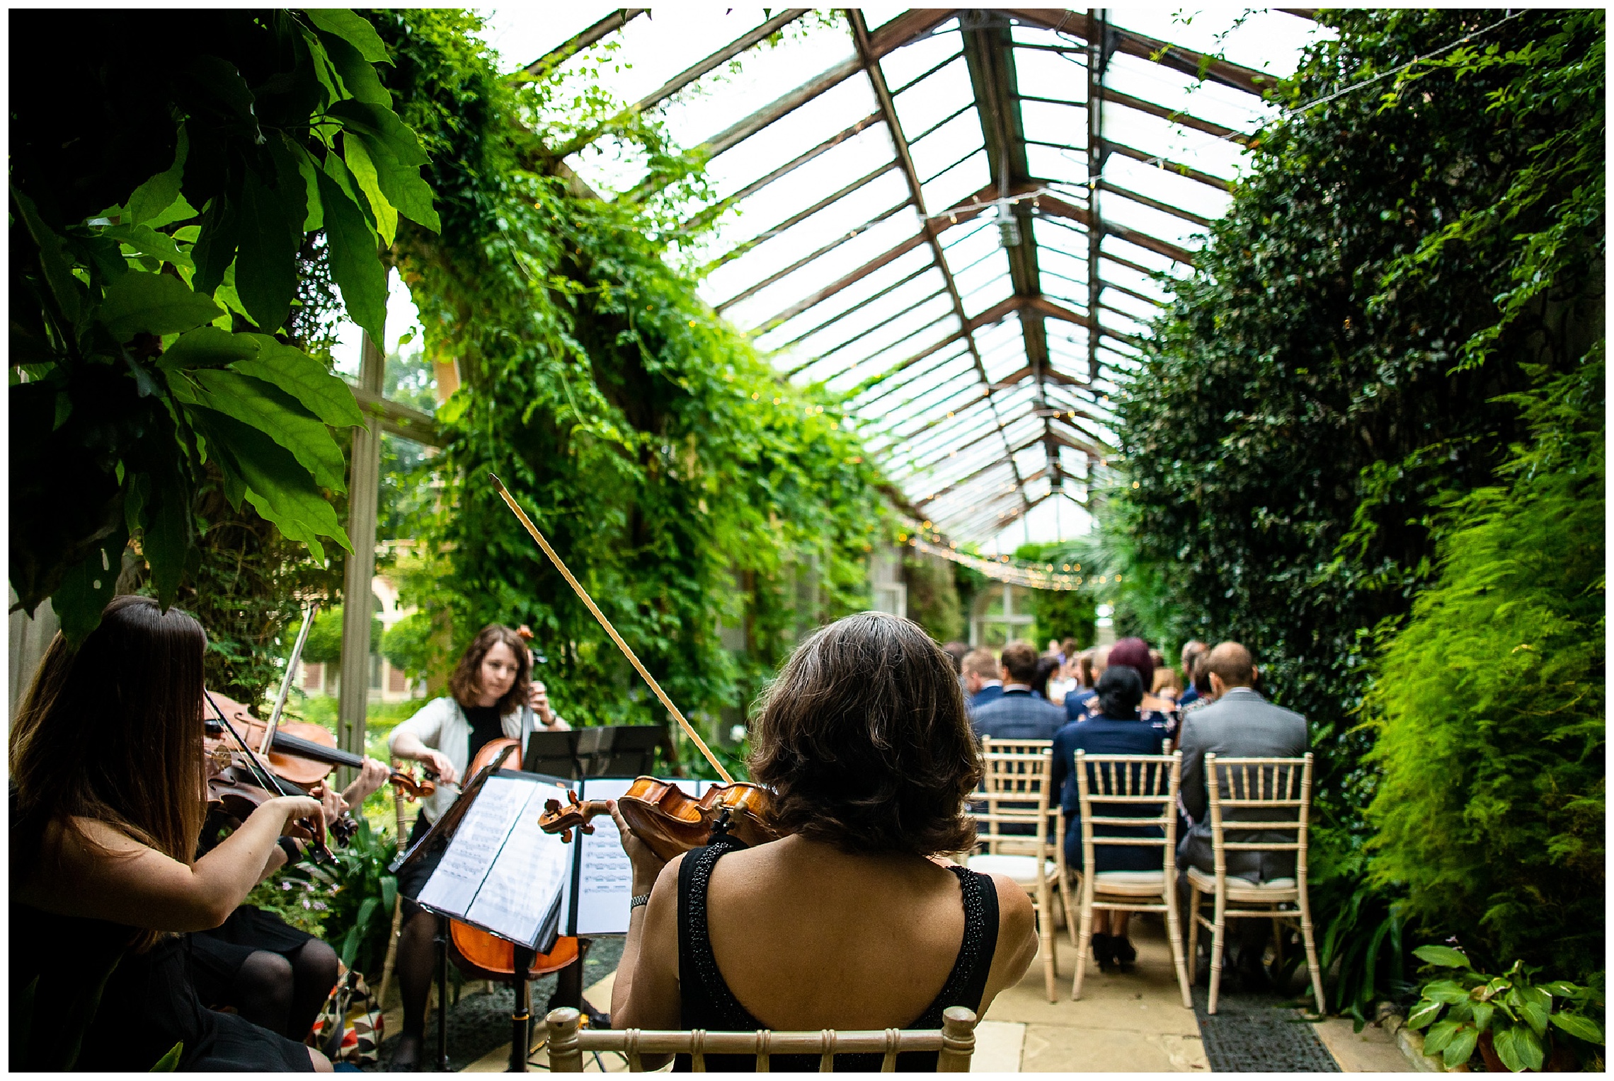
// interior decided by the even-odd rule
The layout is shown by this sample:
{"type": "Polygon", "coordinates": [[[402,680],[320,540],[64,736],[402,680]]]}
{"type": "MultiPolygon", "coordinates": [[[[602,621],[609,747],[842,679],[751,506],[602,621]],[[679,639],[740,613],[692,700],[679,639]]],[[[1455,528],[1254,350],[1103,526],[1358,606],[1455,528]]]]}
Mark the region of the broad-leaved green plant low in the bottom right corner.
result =
{"type": "Polygon", "coordinates": [[[1574,1070],[1575,1052],[1564,1034],[1603,1046],[1603,1026],[1591,1012],[1603,1010],[1591,987],[1554,979],[1537,983],[1535,970],[1514,962],[1503,976],[1474,971],[1461,950],[1420,945],[1412,950],[1435,968],[1453,970],[1430,979],[1407,1016],[1407,1028],[1428,1028],[1424,1054],[1441,1055],[1446,1068],[1469,1060],[1475,1049],[1486,1070],[1574,1070]],[[1556,1029],[1556,1031],[1554,1031],[1556,1029]]]}

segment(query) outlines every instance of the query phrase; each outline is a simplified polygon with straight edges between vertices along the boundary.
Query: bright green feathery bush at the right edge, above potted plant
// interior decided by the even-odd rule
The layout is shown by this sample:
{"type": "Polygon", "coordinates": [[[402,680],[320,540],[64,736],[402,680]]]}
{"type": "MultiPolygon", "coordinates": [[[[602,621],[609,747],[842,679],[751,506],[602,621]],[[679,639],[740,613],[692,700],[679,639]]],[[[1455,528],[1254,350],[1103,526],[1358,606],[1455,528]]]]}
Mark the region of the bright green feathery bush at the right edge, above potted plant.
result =
{"type": "Polygon", "coordinates": [[[1604,965],[1601,350],[1519,403],[1530,440],[1449,510],[1435,586],[1383,634],[1372,868],[1491,968],[1587,978],[1604,965]]]}

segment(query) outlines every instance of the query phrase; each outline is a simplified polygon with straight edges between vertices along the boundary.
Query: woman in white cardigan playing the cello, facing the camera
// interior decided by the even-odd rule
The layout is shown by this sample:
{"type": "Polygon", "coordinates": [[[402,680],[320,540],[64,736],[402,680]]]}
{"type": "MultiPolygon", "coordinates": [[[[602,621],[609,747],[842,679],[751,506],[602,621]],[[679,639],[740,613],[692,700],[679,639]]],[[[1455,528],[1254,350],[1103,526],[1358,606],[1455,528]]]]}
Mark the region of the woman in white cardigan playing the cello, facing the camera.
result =
{"type": "MultiPolygon", "coordinates": [[[[449,678],[449,695],[428,702],[415,716],[392,729],[387,745],[395,758],[424,763],[442,781],[437,792],[421,803],[415,829],[405,847],[426,836],[431,823],[449,810],[457,783],[470,762],[494,739],[523,739],[533,716],[550,731],[565,724],[549,708],[544,686],[531,681],[531,653],[507,626],[491,623],[471,639],[449,678]]],[[[441,857],[439,857],[441,858],[441,857]]],[[[418,895],[437,860],[426,857],[404,870],[404,933],[399,936],[397,976],[404,999],[404,1034],[392,1052],[392,1070],[413,1070],[426,1033],[426,995],[436,952],[436,920],[408,897],[418,895]]]]}

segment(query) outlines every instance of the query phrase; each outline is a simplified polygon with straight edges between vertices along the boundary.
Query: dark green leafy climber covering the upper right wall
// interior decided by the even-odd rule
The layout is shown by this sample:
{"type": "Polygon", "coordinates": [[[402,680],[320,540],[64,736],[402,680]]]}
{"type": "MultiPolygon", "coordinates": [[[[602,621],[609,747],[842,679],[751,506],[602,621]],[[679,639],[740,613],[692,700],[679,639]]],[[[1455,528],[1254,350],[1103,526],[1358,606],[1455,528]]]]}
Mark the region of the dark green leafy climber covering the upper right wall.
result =
{"type": "MultiPolygon", "coordinates": [[[[1504,13],[1322,18],[1285,103],[1504,13]]],[[[1323,828],[1362,828],[1364,636],[1430,582],[1432,508],[1493,479],[1524,361],[1601,336],[1601,11],[1527,11],[1265,132],[1120,403],[1115,513],[1183,631],[1314,721],[1323,828]]]]}

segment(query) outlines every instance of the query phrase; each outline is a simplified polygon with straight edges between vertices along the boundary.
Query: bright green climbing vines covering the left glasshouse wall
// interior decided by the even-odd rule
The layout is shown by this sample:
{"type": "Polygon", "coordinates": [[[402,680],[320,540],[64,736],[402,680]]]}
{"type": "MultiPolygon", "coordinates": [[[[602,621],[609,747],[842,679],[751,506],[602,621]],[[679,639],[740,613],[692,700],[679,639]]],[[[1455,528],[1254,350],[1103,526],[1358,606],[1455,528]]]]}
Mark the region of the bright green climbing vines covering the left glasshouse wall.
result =
{"type": "MultiPolygon", "coordinates": [[[[805,549],[822,552],[825,615],[863,607],[875,471],[834,403],[778,381],[671,266],[675,207],[604,203],[544,171],[520,124],[555,105],[550,81],[504,82],[473,16],[378,21],[444,226],[400,226],[400,266],[428,355],[457,358],[465,378],[437,413],[452,479],[433,536],[452,545],[455,645],[487,621],[528,623],[567,716],[660,720],[500,502],[494,471],[686,712],[744,705],[776,657],[721,647],[731,582],[751,584],[747,626],[768,626],[805,549]]],[[[587,127],[620,105],[568,108],[587,127]]],[[[626,137],[660,152],[649,124],[626,137]]]]}

